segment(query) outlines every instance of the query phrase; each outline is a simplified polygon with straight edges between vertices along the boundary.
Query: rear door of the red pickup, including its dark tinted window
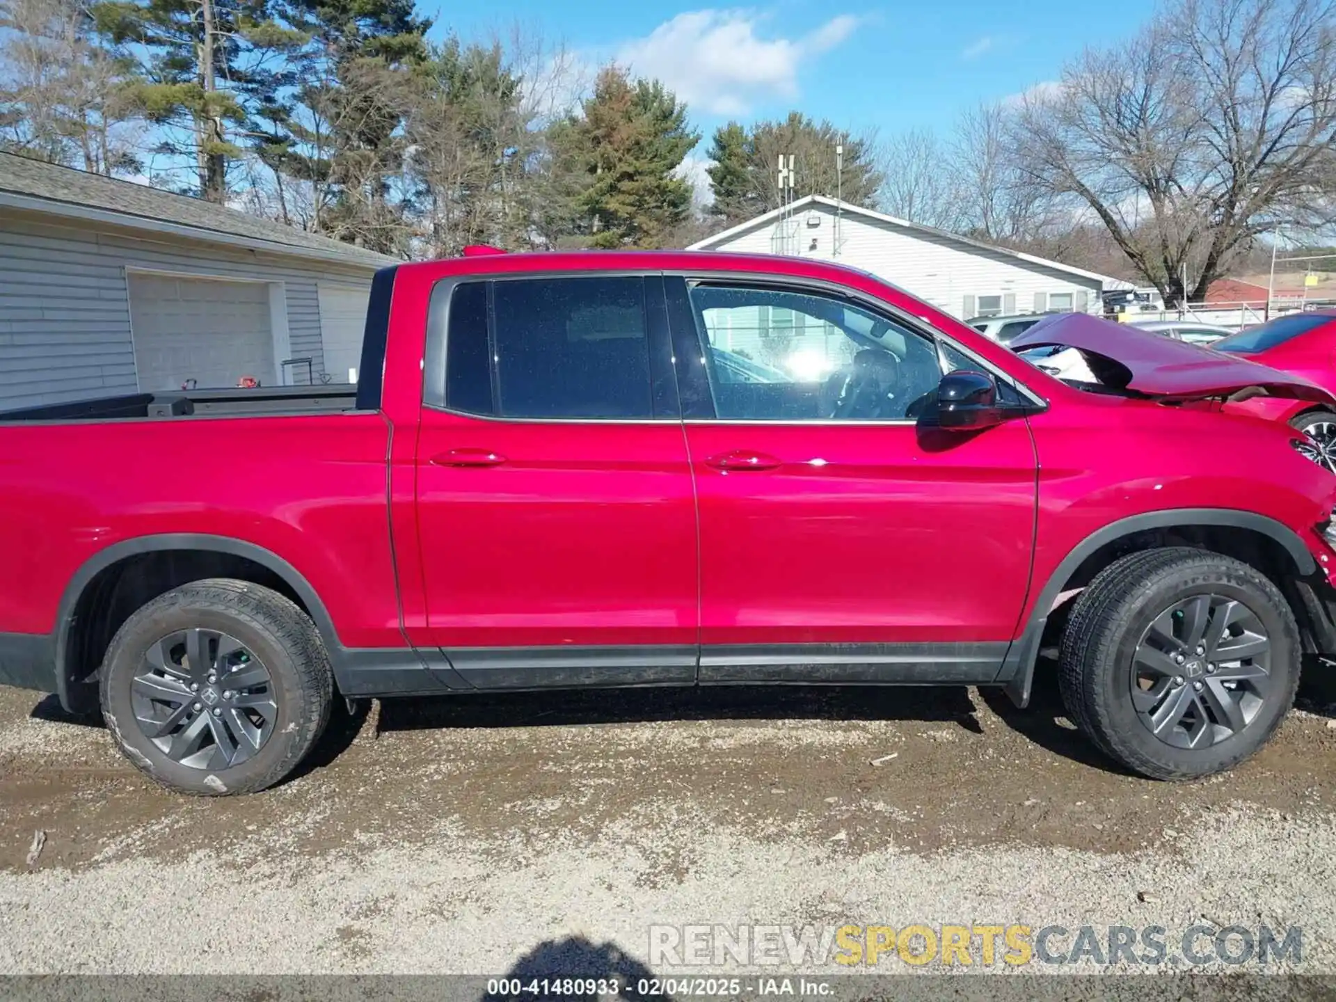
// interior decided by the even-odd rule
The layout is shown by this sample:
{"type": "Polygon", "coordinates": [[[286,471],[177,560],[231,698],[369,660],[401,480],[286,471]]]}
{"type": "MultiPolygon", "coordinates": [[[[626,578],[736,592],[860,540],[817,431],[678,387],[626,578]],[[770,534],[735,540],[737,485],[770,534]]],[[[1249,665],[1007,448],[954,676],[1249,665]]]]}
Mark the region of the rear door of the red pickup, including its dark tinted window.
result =
{"type": "Polygon", "coordinates": [[[428,643],[470,683],[695,680],[671,350],[657,275],[436,286],[417,450],[428,643]]]}

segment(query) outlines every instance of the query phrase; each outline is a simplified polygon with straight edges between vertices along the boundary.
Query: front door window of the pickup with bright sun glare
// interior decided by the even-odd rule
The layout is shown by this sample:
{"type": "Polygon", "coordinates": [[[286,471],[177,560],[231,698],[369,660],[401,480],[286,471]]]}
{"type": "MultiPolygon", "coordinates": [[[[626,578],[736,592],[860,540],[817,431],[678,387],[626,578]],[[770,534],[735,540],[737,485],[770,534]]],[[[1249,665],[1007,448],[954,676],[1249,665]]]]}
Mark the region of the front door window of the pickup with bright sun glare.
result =
{"type": "Polygon", "coordinates": [[[925,334],[832,297],[701,283],[691,289],[691,305],[720,418],[914,420],[937,390],[942,359],[951,369],[977,367],[925,334]]]}

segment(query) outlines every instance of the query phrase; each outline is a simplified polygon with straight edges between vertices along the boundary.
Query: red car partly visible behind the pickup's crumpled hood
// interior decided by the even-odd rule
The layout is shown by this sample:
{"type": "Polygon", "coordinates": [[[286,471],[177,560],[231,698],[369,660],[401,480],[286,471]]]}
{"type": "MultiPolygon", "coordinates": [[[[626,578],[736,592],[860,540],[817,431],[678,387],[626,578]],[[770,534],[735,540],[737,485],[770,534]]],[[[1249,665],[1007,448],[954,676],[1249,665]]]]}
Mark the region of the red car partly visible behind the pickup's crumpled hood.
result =
{"type": "MultiPolygon", "coordinates": [[[[1325,390],[1336,390],[1336,309],[1277,317],[1222,338],[1210,347],[1301,375],[1325,390]]],[[[1303,452],[1336,473],[1336,411],[1325,403],[1253,397],[1226,403],[1225,410],[1288,421],[1312,442],[1303,452]]]]}

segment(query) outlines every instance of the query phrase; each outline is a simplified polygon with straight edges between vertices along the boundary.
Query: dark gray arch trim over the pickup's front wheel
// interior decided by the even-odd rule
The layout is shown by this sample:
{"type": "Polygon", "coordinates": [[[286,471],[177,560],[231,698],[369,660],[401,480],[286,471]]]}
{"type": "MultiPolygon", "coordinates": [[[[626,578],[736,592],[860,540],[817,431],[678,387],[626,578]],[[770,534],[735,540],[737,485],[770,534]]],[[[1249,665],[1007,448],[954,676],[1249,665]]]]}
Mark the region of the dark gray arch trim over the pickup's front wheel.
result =
{"type": "MultiPolygon", "coordinates": [[[[1128,516],[1116,522],[1109,522],[1086,536],[1081,542],[1058,562],[1049,574],[1034,607],[1026,621],[1025,632],[1011,641],[1002,669],[997,681],[1006,684],[1006,693],[1018,707],[1025,707],[1030,701],[1030,687],[1034,683],[1034,663],[1039,656],[1039,641],[1043,629],[1049,623],[1049,613],[1053,604],[1077,568],[1081,566],[1096,550],[1116,542],[1125,536],[1153,529],[1172,529],[1176,526],[1212,525],[1230,529],[1248,529],[1269,537],[1289,554],[1295,561],[1300,576],[1308,576],[1317,570],[1317,561],[1304,545],[1304,541],[1284,522],[1276,521],[1257,512],[1244,512],[1233,508],[1170,508],[1161,512],[1145,512],[1142,514],[1128,516]]],[[[1031,585],[1033,587],[1033,585],[1031,585]]]]}

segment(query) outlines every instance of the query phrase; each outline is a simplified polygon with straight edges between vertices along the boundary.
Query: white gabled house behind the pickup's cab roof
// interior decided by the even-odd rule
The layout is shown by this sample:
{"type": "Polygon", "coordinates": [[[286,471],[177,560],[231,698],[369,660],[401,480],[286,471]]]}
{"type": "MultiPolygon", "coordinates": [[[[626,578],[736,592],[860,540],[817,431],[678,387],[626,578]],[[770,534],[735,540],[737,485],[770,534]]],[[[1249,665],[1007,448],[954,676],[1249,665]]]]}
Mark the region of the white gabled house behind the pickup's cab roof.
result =
{"type": "Polygon", "coordinates": [[[784,254],[850,265],[961,319],[1050,310],[1100,313],[1101,291],[1126,286],[1108,275],[820,195],[739,223],[691,250],[784,254]]]}

